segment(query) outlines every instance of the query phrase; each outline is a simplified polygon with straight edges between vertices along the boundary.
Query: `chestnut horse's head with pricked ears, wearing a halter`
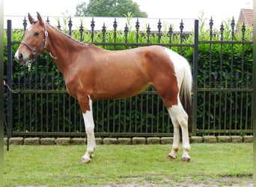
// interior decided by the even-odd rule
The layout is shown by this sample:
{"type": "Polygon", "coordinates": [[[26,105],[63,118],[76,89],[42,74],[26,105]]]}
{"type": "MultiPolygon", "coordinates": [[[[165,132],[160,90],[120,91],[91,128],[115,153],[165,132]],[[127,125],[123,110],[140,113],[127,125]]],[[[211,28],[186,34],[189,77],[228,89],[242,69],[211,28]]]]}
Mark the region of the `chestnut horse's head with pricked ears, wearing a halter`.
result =
{"type": "Polygon", "coordinates": [[[48,32],[40,14],[37,13],[36,21],[28,13],[28,20],[31,23],[31,27],[25,31],[24,40],[20,43],[14,56],[19,64],[27,64],[28,61],[43,52],[46,48],[48,32]]]}

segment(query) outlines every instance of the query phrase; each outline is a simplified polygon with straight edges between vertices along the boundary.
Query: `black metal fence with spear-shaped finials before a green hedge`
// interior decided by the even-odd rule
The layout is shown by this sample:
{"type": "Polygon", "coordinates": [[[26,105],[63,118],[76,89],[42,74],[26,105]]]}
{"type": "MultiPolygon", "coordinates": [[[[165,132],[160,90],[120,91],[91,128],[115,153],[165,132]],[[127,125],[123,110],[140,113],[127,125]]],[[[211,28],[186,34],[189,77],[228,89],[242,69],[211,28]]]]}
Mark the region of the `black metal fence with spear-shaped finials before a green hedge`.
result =
{"type": "MultiPolygon", "coordinates": [[[[49,19],[46,21],[49,22],[49,19]]],[[[234,20],[231,28],[225,28],[222,24],[219,31],[214,31],[211,19],[209,40],[205,40],[205,37],[200,40],[201,28],[198,20],[195,20],[190,33],[192,41],[188,42],[186,39],[189,34],[183,33],[186,26],[183,20],[176,25],[179,28],[176,33],[173,25],[167,31],[162,31],[160,19],[156,23],[157,31],[151,32],[147,25],[147,30],[140,33],[138,21],[135,22],[136,29],[131,41],[127,25],[122,33],[118,31],[117,19],[114,20],[112,31],[107,31],[105,25],[102,31],[94,31],[94,19],[91,20],[90,31],[85,31],[82,24],[78,31],[73,31],[70,19],[68,33],[76,34],[76,38],[81,41],[85,41],[86,36],[90,43],[106,49],[127,49],[152,44],[176,49],[192,63],[193,121],[190,135],[252,134],[252,55],[248,55],[252,41],[245,36],[245,25],[241,29],[241,38],[237,39],[234,20]],[[225,29],[230,29],[228,40],[223,36],[225,29]],[[122,39],[118,37],[120,35],[122,39]],[[177,38],[179,42],[174,43],[177,38]],[[204,55],[201,55],[203,52],[204,55]]],[[[23,25],[25,30],[25,19],[23,25]]],[[[28,73],[26,67],[20,67],[13,61],[12,47],[17,47],[20,40],[12,40],[10,20],[7,26],[5,75],[13,93],[7,90],[5,131],[11,132],[13,136],[85,136],[78,102],[65,91],[64,79],[49,55],[45,53],[37,58],[33,70],[28,73]]],[[[61,29],[59,24],[58,28],[61,29]]],[[[153,88],[129,99],[94,102],[94,121],[96,136],[173,135],[168,112],[153,88]]]]}

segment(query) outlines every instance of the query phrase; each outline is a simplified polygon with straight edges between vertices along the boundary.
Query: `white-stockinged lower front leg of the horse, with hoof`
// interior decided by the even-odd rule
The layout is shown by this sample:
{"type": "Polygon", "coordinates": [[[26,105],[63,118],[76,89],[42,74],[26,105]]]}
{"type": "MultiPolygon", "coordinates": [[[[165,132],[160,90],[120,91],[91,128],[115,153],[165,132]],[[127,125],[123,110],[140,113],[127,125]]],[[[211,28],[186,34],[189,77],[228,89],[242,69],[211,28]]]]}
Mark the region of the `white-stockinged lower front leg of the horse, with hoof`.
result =
{"type": "Polygon", "coordinates": [[[87,150],[85,155],[82,156],[81,163],[87,163],[91,161],[94,150],[96,148],[95,137],[94,137],[94,117],[92,111],[92,100],[89,97],[90,110],[85,111],[82,114],[85,121],[85,131],[87,135],[87,150]]]}

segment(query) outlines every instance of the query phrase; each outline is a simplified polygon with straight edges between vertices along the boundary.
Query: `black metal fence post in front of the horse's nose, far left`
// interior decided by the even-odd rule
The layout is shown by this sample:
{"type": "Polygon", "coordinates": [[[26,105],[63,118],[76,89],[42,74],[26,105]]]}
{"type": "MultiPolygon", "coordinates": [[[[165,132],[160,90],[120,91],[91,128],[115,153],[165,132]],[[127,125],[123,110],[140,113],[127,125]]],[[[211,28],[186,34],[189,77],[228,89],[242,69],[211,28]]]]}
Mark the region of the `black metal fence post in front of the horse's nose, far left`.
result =
{"type": "MultiPolygon", "coordinates": [[[[12,46],[11,46],[11,20],[7,20],[7,84],[12,89],[12,46]]],[[[9,150],[9,139],[11,137],[13,126],[13,98],[11,91],[8,89],[7,93],[7,150],[9,150]]]]}

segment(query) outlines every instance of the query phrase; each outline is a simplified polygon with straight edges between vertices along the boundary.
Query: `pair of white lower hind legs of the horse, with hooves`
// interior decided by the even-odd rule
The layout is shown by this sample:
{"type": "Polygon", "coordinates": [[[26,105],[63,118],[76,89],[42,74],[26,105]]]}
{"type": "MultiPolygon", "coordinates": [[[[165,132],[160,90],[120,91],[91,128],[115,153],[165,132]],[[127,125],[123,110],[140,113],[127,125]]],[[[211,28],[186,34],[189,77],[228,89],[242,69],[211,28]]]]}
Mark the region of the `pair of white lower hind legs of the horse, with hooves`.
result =
{"type": "Polygon", "coordinates": [[[181,160],[183,162],[189,162],[190,144],[189,144],[189,130],[188,130],[188,115],[186,114],[186,111],[184,111],[180,101],[178,101],[177,105],[172,105],[170,108],[168,108],[168,113],[174,125],[174,144],[173,144],[171,153],[169,153],[168,155],[168,158],[170,159],[176,158],[176,153],[177,153],[179,141],[180,141],[180,132],[179,132],[179,125],[180,125],[181,131],[182,131],[182,141],[183,141],[183,155],[181,157],[181,160]]]}

